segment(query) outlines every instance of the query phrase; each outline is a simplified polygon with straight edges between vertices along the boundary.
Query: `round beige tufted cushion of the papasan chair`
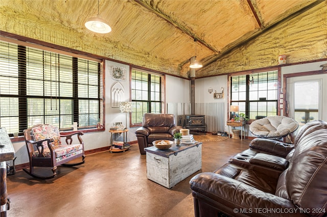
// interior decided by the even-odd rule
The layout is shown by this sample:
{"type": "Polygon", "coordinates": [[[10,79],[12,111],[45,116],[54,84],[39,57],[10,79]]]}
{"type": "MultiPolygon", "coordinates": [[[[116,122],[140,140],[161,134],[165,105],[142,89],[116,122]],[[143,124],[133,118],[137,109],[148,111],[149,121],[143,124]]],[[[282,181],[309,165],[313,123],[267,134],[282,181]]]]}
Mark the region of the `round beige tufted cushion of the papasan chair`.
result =
{"type": "Polygon", "coordinates": [[[285,116],[269,116],[255,120],[250,124],[250,131],[260,138],[282,138],[294,132],[298,123],[285,116]]]}

